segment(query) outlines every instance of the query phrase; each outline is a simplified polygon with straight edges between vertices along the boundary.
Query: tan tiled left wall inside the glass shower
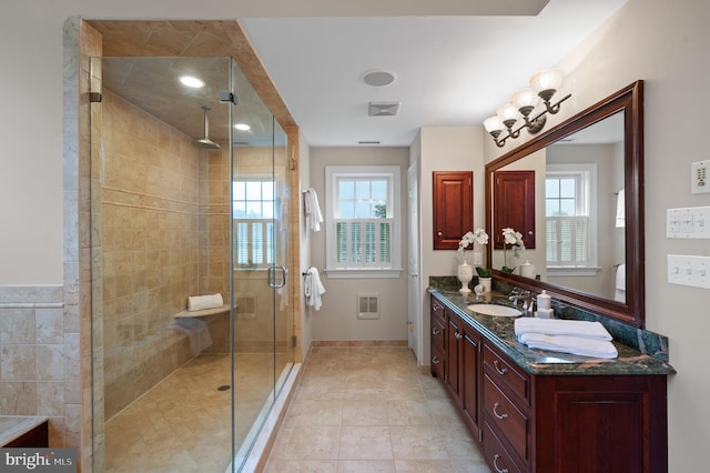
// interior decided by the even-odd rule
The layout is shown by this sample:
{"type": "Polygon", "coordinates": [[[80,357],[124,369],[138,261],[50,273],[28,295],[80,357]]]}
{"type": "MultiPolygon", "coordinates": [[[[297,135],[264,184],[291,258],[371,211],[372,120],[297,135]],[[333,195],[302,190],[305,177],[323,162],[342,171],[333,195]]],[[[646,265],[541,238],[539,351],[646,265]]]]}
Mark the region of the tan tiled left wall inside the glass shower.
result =
{"type": "Polygon", "coordinates": [[[199,293],[192,139],[103,91],[105,419],[192,358],[174,314],[199,293]]]}

